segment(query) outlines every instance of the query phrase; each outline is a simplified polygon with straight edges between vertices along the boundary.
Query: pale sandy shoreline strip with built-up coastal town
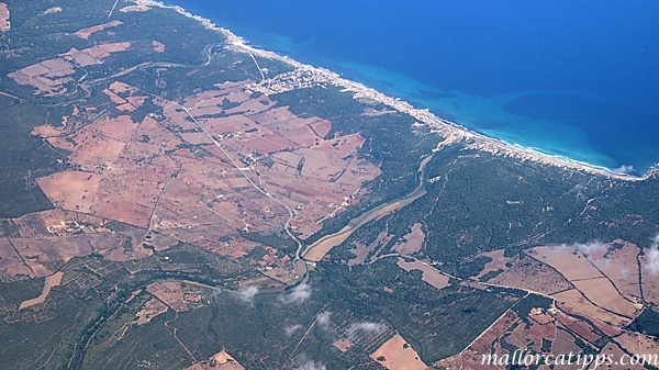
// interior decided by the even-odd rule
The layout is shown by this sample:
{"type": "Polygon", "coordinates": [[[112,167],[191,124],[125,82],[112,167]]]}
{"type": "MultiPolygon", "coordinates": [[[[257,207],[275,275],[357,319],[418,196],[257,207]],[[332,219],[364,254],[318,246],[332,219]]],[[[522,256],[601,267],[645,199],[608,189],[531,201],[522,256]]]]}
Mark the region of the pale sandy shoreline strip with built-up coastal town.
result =
{"type": "MultiPolygon", "coordinates": [[[[474,132],[455,122],[440,119],[431,113],[428,109],[414,108],[411,103],[403,101],[400,98],[389,97],[360,82],[345,79],[338,74],[328,69],[306,65],[288,56],[281,56],[273,52],[249,46],[242,37],[236,36],[230,30],[216,26],[215,23],[213,23],[210,19],[192,14],[180,5],[167,5],[157,0],[133,0],[133,2],[135,3],[134,7],[138,8],[141,11],[148,10],[152,7],[171,9],[183,16],[199,21],[208,30],[222,33],[226,37],[226,44],[228,45],[227,47],[232,48],[233,51],[248,53],[264,58],[277,59],[295,68],[295,70],[291,72],[284,72],[276,76],[275,78],[250,85],[249,87],[255,91],[260,91],[268,94],[288,91],[291,90],[291,86],[293,85],[291,82],[293,80],[295,83],[293,88],[333,85],[343,88],[344,91],[354,92],[355,99],[373,100],[383,103],[401,113],[409,114],[417,121],[426,124],[432,130],[442,133],[450,142],[469,142],[466,143],[467,148],[483,150],[499,156],[513,157],[520,160],[532,160],[565,169],[584,171],[623,181],[644,181],[655,178],[657,173],[659,173],[659,169],[657,168],[650,168],[643,176],[616,172],[610,168],[579,161],[565,156],[543,153],[536,148],[511,144],[500,138],[474,132]]],[[[444,144],[446,144],[446,142],[444,144]]]]}

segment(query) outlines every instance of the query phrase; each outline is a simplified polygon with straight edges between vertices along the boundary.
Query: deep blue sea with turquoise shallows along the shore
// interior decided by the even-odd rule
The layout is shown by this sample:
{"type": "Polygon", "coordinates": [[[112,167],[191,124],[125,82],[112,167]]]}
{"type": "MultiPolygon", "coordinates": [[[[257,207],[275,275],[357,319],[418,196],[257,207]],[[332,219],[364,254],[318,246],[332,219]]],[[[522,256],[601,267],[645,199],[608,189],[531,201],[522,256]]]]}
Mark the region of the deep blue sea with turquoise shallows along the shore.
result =
{"type": "Polygon", "coordinates": [[[659,162],[656,0],[167,3],[512,144],[634,173],[659,162]]]}

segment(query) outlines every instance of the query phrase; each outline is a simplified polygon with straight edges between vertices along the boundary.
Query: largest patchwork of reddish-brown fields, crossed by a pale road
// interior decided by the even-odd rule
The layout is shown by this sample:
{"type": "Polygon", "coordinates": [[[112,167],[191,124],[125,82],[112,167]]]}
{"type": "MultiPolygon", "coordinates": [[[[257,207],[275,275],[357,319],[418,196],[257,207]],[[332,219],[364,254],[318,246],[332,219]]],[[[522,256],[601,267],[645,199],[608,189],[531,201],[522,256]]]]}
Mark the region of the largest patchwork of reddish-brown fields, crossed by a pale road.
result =
{"type": "Polygon", "coordinates": [[[357,135],[325,139],[312,127],[324,125],[326,134],[330,122],[298,119],[267,98],[249,98],[247,82],[217,85],[181,105],[113,82],[103,93],[118,111],[134,111],[148,100],[163,115],[134,122],[105,114],[82,127],[36,127],[55,147],[71,152],[76,168],[37,182],[64,210],[211,249],[220,247],[212,240],[236,229],[281,227],[284,208],[294,210],[292,228],[308,237],[355,202],[378,168],[354,157],[364,142],[357,135]]]}

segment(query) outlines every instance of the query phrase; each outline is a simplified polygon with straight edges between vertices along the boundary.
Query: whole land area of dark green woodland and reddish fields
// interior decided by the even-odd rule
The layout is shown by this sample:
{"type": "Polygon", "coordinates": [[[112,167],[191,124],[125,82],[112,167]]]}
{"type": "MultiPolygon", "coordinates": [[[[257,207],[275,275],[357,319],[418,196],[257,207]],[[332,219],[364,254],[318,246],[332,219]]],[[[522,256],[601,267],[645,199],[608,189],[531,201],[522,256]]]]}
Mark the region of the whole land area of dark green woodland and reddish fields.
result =
{"type": "Polygon", "coordinates": [[[181,12],[0,2],[0,368],[657,350],[657,172],[492,149],[181,12]]]}

